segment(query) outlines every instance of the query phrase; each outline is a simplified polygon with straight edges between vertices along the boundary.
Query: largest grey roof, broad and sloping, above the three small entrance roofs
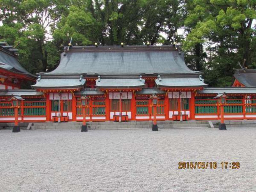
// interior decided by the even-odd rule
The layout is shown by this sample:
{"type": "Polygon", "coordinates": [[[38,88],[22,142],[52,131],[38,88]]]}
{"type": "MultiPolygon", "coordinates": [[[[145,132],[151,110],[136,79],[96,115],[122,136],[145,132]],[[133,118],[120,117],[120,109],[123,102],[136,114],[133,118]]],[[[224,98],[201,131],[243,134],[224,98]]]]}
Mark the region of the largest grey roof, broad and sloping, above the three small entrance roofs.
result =
{"type": "Polygon", "coordinates": [[[184,55],[171,46],[72,47],[48,74],[189,74],[184,55]],[[111,47],[111,48],[110,48],[111,47]],[[145,48],[146,47],[146,48],[145,48]],[[137,49],[136,49],[137,48],[137,49]],[[169,50],[168,50],[169,49],[169,50]],[[75,50],[75,51],[74,51],[75,50]]]}

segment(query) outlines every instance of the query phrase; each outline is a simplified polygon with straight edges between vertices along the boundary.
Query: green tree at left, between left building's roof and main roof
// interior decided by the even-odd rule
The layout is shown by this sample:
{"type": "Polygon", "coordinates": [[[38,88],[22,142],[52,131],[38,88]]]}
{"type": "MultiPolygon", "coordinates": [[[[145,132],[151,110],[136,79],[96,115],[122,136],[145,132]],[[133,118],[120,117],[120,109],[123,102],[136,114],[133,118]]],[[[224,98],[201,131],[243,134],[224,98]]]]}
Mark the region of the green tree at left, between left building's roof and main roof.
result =
{"type": "Polygon", "coordinates": [[[18,45],[19,60],[28,71],[45,71],[49,64],[57,64],[58,50],[49,40],[60,16],[68,13],[68,4],[68,0],[0,0],[0,39],[18,45]]]}

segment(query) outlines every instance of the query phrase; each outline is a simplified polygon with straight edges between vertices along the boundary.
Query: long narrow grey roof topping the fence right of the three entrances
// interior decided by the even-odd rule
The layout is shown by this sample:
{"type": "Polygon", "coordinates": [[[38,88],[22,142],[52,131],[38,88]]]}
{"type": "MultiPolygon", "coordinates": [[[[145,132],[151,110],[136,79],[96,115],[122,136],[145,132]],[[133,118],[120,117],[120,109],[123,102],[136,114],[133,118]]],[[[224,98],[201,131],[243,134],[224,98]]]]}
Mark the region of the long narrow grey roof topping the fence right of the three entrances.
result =
{"type": "Polygon", "coordinates": [[[219,93],[256,93],[256,87],[204,87],[197,91],[200,94],[219,94],[219,93]]]}

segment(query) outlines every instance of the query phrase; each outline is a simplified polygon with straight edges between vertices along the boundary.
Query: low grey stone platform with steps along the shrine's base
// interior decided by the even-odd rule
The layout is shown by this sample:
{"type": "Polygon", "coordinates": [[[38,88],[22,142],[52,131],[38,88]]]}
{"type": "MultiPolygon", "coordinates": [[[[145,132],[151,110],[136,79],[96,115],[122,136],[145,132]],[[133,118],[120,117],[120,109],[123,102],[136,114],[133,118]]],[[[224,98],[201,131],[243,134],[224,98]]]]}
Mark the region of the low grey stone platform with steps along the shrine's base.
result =
{"type": "MultiPolygon", "coordinates": [[[[215,128],[219,127],[220,121],[212,121],[215,128]]],[[[228,127],[256,127],[256,120],[226,120],[228,127]]],[[[20,129],[26,130],[29,123],[19,123],[20,129]]],[[[55,129],[55,130],[65,130],[65,129],[81,129],[82,122],[40,122],[32,123],[30,129],[55,129]]],[[[128,122],[87,122],[88,129],[151,129],[152,121],[128,121],[128,122]]],[[[0,123],[0,129],[12,129],[14,123],[0,123]]],[[[159,129],[182,129],[182,128],[200,128],[207,127],[210,128],[209,121],[158,121],[159,129]]]]}

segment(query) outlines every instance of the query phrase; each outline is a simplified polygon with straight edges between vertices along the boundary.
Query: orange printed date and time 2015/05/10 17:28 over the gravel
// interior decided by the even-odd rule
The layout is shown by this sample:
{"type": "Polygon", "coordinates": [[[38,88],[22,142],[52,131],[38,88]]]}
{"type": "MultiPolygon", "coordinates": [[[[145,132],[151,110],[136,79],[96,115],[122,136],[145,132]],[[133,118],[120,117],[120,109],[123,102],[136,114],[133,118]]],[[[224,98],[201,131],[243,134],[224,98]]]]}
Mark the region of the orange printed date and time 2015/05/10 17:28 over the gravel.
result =
{"type": "MultiPolygon", "coordinates": [[[[227,162],[223,161],[220,162],[221,169],[239,169],[240,162],[227,162]]],[[[178,163],[179,169],[217,169],[217,162],[179,162],[178,163]]]]}

